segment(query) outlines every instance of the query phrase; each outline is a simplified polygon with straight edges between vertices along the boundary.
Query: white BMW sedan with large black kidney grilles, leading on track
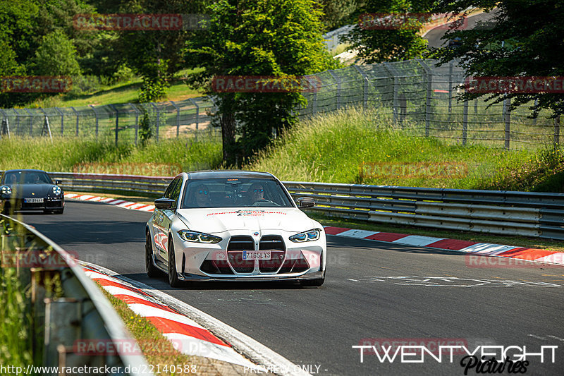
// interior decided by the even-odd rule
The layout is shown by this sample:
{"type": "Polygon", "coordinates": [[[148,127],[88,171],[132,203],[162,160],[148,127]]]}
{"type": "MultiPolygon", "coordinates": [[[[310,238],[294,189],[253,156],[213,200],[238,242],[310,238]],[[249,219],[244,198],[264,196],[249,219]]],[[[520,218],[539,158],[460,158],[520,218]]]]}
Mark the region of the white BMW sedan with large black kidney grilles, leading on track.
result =
{"type": "Polygon", "coordinates": [[[149,277],[184,281],[325,279],[323,226],[300,209],[276,177],[253,171],[196,171],[176,176],[154,201],[145,229],[149,277]]]}

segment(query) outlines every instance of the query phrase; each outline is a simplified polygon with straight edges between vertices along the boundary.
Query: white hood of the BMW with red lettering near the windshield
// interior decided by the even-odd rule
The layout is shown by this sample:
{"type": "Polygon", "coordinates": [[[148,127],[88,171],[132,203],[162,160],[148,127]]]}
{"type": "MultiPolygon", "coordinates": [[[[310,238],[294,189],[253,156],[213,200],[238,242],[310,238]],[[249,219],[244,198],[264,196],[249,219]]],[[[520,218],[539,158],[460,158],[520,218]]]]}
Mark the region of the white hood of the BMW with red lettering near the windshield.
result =
{"type": "Polygon", "coordinates": [[[180,209],[178,217],[192,231],[207,234],[231,230],[283,230],[301,232],[319,226],[295,207],[228,207],[180,209]]]}

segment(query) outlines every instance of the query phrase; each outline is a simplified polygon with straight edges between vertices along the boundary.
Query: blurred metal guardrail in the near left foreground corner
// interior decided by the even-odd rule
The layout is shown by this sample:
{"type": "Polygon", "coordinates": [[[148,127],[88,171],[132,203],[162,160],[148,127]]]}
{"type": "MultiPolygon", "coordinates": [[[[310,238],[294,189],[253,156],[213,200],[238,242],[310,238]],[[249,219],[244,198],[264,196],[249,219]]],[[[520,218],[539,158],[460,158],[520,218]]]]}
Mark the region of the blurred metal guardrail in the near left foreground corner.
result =
{"type": "Polygon", "coordinates": [[[59,371],[61,367],[115,367],[120,370],[116,375],[152,375],[143,356],[123,353],[117,346],[121,341],[135,340],[73,257],[31,226],[3,214],[0,222],[7,224],[2,226],[0,272],[6,262],[12,267],[9,260],[14,260],[20,281],[31,286],[27,307],[32,311],[32,335],[44,333],[44,339],[34,338],[44,344],[41,366],[59,367],[59,371]],[[60,281],[56,294],[48,287],[48,281],[54,280],[60,281]],[[81,353],[75,346],[79,340],[116,343],[116,354],[81,353]]]}

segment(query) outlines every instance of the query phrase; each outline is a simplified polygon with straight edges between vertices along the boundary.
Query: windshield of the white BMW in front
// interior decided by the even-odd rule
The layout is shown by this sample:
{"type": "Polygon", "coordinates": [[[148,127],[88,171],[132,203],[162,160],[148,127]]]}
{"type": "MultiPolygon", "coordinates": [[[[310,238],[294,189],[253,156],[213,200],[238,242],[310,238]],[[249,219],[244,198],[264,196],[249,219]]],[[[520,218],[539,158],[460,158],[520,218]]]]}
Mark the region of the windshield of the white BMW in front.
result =
{"type": "Polygon", "coordinates": [[[214,178],[188,180],[181,207],[293,207],[293,203],[275,180],[214,178]]]}

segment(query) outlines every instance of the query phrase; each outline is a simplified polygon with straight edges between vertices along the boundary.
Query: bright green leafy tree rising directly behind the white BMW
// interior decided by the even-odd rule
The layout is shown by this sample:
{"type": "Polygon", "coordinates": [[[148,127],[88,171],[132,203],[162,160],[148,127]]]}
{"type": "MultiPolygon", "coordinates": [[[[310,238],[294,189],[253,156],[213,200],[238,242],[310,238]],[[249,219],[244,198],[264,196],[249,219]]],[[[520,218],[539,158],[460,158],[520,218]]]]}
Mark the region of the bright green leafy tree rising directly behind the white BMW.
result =
{"type": "Polygon", "coordinates": [[[187,44],[187,65],[204,68],[190,83],[206,85],[215,98],[223,162],[241,164],[268,145],[272,133],[292,126],[292,110],[304,98],[299,90],[218,92],[209,85],[212,78],[269,76],[283,86],[295,76],[336,68],[337,63],[324,50],[321,13],[313,0],[220,0],[207,13],[204,30],[187,44]]]}

